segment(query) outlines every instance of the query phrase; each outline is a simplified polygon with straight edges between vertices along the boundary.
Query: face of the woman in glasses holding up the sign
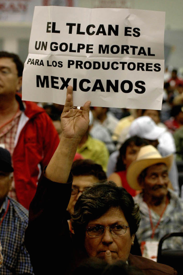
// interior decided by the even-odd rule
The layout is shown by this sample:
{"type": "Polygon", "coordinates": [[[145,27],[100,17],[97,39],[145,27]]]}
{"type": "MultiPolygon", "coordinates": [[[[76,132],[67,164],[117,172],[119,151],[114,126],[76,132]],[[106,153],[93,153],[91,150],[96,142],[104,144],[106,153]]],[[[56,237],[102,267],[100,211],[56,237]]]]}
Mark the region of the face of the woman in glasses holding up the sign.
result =
{"type": "Polygon", "coordinates": [[[113,235],[108,228],[114,225],[129,226],[123,211],[119,207],[111,207],[98,219],[88,222],[87,228],[97,225],[102,225],[107,228],[104,229],[104,233],[98,237],[89,236],[86,231],[85,249],[88,256],[104,259],[105,252],[110,250],[113,260],[120,259],[126,261],[134,241],[134,235],[130,235],[129,227],[127,227],[126,232],[122,235],[113,235]]]}

